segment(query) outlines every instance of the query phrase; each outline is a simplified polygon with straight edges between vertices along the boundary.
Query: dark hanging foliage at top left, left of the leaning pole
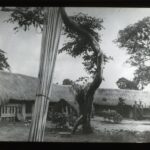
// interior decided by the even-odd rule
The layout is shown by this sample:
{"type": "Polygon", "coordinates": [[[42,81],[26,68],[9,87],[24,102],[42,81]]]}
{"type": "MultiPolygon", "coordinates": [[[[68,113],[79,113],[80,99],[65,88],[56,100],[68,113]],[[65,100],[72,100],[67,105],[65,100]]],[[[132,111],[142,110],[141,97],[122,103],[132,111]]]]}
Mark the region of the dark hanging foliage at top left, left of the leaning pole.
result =
{"type": "Polygon", "coordinates": [[[44,9],[43,7],[16,7],[14,11],[11,11],[10,18],[6,21],[8,23],[17,23],[18,26],[14,27],[16,31],[19,31],[20,28],[27,31],[30,30],[31,26],[42,30],[44,9]]]}

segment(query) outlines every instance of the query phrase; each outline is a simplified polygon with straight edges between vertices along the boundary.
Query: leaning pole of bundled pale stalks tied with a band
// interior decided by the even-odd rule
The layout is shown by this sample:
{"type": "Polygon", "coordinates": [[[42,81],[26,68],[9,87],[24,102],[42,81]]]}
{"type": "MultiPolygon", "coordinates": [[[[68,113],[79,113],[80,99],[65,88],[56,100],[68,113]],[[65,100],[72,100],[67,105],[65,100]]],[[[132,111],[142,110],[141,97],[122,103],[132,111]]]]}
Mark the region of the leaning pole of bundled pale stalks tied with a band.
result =
{"type": "Polygon", "coordinates": [[[32,114],[28,139],[30,142],[42,142],[44,140],[49,97],[51,95],[61,27],[60,8],[46,7],[38,74],[39,85],[36,92],[35,107],[32,114]]]}

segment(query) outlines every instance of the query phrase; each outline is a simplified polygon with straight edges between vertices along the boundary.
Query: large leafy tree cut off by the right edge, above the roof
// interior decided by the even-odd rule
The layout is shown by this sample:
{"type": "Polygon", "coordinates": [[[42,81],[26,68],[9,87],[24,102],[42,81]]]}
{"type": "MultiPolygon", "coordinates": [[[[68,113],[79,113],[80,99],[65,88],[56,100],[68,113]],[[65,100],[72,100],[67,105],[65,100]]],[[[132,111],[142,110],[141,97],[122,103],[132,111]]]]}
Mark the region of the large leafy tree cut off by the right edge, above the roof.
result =
{"type": "Polygon", "coordinates": [[[143,89],[150,83],[150,17],[120,30],[115,43],[129,54],[127,63],[136,68],[133,81],[143,89]]]}

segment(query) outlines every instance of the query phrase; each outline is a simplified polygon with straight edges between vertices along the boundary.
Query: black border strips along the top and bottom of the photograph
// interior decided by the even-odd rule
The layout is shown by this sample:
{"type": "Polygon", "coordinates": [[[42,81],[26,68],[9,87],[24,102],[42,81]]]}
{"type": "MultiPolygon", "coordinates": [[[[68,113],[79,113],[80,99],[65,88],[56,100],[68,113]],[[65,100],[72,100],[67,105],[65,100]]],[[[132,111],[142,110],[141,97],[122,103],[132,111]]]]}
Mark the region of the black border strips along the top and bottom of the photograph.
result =
{"type": "MultiPolygon", "coordinates": [[[[148,0],[0,0],[0,6],[39,6],[39,7],[150,7],[150,1],[148,0]]],[[[81,149],[106,149],[112,150],[113,148],[131,148],[134,147],[144,149],[143,146],[149,146],[149,144],[135,144],[135,143],[53,143],[53,142],[0,142],[0,149],[5,148],[31,148],[47,150],[47,149],[72,149],[72,148],[81,148],[81,149]]]]}

